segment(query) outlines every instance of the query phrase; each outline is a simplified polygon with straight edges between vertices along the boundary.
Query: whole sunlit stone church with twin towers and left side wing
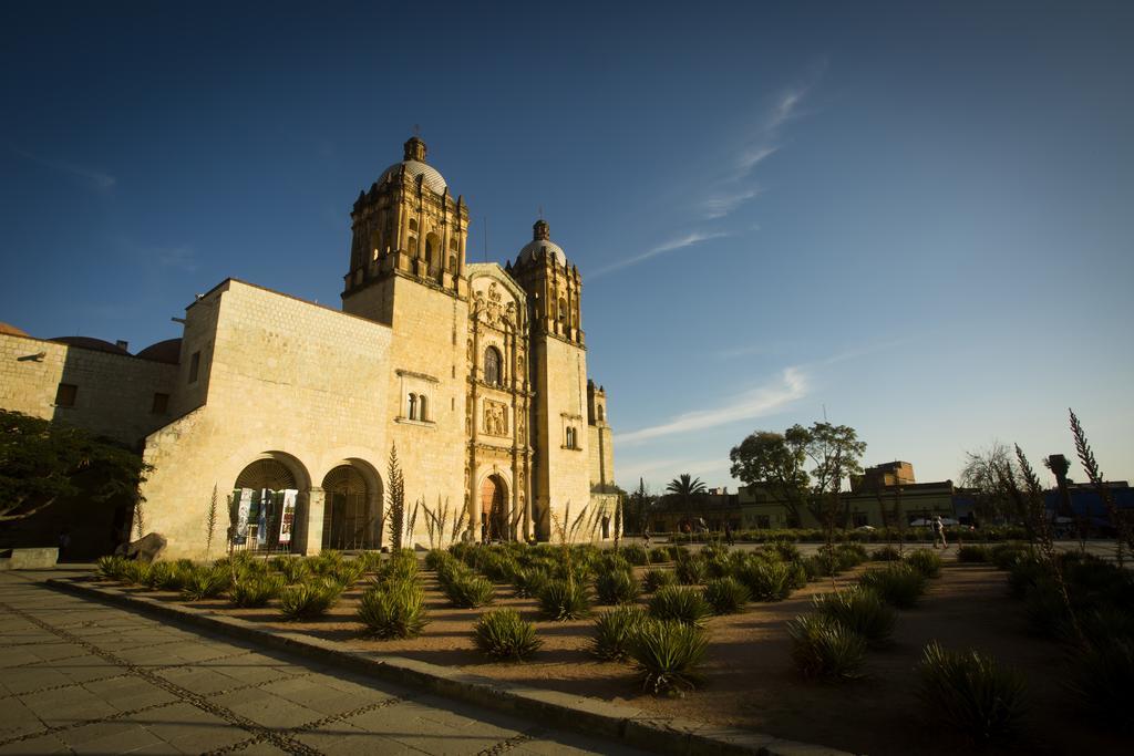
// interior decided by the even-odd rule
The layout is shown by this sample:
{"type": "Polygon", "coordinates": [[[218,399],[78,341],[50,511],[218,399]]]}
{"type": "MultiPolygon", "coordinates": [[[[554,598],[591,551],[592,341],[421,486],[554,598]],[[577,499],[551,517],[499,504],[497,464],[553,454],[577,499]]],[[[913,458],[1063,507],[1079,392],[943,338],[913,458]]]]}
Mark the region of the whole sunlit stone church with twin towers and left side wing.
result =
{"type": "Polygon", "coordinates": [[[505,266],[471,263],[468,219],[411,138],[350,211],[341,312],[228,279],[189,305],[180,339],[136,355],[0,329],[0,406],[144,439],[143,527],[169,558],[219,553],[228,502],[244,547],[389,543],[395,449],[407,544],[549,540],[568,507],[586,508],[579,537],[610,537],[611,428],[578,270],[542,220],[505,266]]]}

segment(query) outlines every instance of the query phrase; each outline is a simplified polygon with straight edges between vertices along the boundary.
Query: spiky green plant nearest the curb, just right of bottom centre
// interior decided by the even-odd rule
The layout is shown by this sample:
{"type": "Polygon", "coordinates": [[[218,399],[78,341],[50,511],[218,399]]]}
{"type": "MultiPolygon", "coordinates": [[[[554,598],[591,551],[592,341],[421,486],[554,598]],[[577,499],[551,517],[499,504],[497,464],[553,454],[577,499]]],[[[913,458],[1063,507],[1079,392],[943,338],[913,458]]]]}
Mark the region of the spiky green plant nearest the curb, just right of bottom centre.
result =
{"type": "Polygon", "coordinates": [[[632,635],[629,655],[644,690],[679,696],[701,682],[708,647],[704,628],[646,618],[632,635]]]}

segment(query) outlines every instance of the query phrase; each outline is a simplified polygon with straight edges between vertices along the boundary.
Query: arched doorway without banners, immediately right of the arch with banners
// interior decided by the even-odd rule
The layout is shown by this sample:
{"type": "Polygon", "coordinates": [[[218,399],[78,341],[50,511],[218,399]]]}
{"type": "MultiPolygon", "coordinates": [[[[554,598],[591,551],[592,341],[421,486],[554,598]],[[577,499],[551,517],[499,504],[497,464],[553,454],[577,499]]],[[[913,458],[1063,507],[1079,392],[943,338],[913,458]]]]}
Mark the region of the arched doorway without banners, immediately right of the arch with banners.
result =
{"type": "Polygon", "coordinates": [[[323,478],[323,549],[379,549],[382,544],[381,481],[367,482],[354,465],[323,478]]]}

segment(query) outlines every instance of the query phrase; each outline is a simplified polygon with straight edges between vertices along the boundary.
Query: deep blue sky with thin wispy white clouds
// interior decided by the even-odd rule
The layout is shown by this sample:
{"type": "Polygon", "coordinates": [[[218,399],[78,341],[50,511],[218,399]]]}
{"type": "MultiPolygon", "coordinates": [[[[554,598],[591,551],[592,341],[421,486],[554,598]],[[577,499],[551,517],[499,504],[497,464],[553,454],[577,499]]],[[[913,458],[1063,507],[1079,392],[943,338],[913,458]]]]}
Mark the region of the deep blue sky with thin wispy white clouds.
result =
{"type": "MultiPolygon", "coordinates": [[[[5,3],[0,321],[178,335],[235,275],[337,305],[421,125],[469,258],[543,209],[616,468],[735,485],[823,416],[956,478],[1086,425],[1134,478],[1134,6],[5,3]]],[[[1073,478],[1082,478],[1077,465],[1073,478]]]]}

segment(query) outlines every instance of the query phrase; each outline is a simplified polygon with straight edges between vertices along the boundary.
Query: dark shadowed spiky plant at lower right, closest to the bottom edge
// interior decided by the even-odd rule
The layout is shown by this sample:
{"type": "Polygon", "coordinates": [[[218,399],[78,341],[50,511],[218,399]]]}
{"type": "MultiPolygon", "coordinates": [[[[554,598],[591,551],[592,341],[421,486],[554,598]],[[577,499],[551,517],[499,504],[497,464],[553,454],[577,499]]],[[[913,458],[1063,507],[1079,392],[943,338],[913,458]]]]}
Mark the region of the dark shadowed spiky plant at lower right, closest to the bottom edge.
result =
{"type": "Polygon", "coordinates": [[[975,651],[925,646],[919,668],[921,697],[933,722],[979,745],[1008,744],[1026,712],[1024,679],[975,651]]]}

